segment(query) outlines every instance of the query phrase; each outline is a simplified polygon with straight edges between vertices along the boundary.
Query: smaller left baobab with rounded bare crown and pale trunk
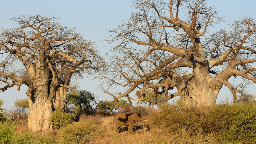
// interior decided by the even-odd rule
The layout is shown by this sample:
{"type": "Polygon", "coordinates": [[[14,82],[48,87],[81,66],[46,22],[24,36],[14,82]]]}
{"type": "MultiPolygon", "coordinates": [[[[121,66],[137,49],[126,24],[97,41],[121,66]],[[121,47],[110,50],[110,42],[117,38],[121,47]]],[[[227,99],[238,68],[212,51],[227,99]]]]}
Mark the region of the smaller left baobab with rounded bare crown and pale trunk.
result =
{"type": "MultiPolygon", "coordinates": [[[[33,131],[52,128],[48,117],[66,105],[72,75],[92,74],[101,61],[94,43],[78,34],[76,28],[57,23],[59,18],[41,15],[19,16],[16,28],[1,29],[0,81],[2,91],[27,85],[28,127],[33,131]]],[[[75,92],[75,91],[74,91],[75,92]]]]}

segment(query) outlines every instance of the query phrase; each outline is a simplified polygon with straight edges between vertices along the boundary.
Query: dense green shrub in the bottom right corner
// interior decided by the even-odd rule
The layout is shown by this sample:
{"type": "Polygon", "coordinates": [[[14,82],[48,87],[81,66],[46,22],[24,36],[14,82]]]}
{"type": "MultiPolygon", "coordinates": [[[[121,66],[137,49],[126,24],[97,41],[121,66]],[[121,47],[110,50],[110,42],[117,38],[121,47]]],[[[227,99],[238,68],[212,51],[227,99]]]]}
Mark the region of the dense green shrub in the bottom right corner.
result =
{"type": "Polygon", "coordinates": [[[218,117],[215,127],[220,138],[234,143],[256,143],[255,106],[255,101],[216,106],[212,113],[218,117]]]}

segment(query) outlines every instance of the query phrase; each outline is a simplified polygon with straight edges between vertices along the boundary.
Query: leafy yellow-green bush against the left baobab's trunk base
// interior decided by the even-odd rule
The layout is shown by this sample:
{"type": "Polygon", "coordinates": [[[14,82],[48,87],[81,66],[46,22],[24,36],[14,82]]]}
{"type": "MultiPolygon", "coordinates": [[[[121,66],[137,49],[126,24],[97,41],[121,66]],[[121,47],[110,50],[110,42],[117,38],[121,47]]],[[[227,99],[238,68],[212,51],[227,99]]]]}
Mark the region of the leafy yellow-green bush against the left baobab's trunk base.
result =
{"type": "Polygon", "coordinates": [[[51,126],[53,128],[63,128],[71,124],[76,120],[76,114],[65,112],[65,108],[60,108],[52,112],[52,115],[48,119],[51,121],[51,126]]]}

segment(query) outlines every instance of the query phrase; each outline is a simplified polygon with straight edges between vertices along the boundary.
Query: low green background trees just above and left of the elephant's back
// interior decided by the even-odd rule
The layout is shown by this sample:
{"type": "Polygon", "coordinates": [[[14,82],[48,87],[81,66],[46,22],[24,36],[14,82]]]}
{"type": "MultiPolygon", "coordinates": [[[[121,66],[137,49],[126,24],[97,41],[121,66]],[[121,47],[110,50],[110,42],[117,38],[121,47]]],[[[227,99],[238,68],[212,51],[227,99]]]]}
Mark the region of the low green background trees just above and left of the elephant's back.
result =
{"type": "Polygon", "coordinates": [[[115,101],[100,101],[98,104],[98,109],[106,109],[109,110],[112,114],[115,113],[116,110],[118,110],[122,106],[129,105],[126,100],[118,100],[117,104],[115,105],[115,101]]]}

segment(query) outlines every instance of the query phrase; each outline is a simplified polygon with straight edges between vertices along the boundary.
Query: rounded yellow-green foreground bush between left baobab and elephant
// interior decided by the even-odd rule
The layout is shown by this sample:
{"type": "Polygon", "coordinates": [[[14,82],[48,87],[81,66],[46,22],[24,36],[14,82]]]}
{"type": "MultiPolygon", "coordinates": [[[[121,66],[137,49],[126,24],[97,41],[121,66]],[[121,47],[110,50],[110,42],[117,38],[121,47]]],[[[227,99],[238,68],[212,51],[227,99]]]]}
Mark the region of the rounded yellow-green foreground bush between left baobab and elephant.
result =
{"type": "Polygon", "coordinates": [[[61,131],[61,137],[71,142],[89,141],[98,137],[99,134],[100,128],[94,121],[83,119],[79,122],[73,122],[72,125],[65,127],[61,131]]]}

